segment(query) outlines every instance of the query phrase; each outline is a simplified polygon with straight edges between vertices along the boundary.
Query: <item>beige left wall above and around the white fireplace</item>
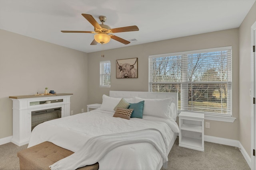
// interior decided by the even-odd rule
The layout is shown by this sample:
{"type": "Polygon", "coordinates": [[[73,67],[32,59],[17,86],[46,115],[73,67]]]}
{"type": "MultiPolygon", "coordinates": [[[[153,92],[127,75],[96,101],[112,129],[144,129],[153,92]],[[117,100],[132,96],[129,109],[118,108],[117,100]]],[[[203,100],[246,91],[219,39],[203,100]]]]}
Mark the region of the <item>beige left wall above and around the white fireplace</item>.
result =
{"type": "Polygon", "coordinates": [[[0,29],[0,139],[12,136],[9,96],[73,93],[70,109],[86,110],[87,54],[0,29]]]}

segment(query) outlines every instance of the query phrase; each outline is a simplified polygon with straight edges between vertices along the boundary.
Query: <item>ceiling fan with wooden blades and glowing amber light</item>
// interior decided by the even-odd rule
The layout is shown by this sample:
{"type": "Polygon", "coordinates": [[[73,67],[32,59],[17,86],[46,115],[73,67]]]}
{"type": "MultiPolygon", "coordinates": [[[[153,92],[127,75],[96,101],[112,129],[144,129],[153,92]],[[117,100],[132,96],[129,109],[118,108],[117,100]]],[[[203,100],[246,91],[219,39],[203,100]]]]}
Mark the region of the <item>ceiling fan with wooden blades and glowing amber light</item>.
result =
{"type": "Polygon", "coordinates": [[[126,45],[126,44],[129,44],[130,41],[122,39],[111,33],[139,31],[139,28],[136,25],[111,29],[108,25],[103,24],[106,21],[105,16],[99,16],[99,19],[102,22],[102,24],[99,24],[90,14],[82,14],[82,16],[84,16],[84,18],[94,26],[94,31],[61,31],[61,32],[63,33],[95,33],[94,40],[92,41],[91,45],[97,45],[97,43],[106,44],[110,41],[110,38],[126,45]]]}

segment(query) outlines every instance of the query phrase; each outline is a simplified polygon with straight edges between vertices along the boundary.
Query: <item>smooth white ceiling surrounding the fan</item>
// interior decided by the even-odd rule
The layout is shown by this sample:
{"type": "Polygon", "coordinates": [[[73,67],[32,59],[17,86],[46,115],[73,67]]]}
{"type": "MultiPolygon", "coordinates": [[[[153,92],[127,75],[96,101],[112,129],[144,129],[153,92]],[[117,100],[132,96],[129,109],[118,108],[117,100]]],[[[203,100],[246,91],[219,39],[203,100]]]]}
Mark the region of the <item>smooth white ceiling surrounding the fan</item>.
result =
{"type": "Polygon", "coordinates": [[[114,39],[104,49],[149,43],[239,27],[255,0],[0,0],[0,29],[86,53],[101,51],[90,45],[94,31],[81,15],[107,17],[111,28],[137,25],[139,31],[114,33],[137,39],[124,45],[114,39]]]}

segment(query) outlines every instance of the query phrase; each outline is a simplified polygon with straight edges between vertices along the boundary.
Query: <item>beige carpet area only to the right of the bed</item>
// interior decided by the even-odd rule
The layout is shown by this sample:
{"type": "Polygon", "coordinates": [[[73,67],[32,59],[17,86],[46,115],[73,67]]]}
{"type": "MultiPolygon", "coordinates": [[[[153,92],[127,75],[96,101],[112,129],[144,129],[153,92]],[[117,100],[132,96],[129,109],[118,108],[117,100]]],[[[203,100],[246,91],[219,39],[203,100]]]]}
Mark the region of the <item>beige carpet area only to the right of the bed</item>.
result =
{"type": "Polygon", "coordinates": [[[236,147],[204,142],[201,152],[179,147],[178,142],[177,138],[168,155],[168,170],[250,170],[236,147]]]}

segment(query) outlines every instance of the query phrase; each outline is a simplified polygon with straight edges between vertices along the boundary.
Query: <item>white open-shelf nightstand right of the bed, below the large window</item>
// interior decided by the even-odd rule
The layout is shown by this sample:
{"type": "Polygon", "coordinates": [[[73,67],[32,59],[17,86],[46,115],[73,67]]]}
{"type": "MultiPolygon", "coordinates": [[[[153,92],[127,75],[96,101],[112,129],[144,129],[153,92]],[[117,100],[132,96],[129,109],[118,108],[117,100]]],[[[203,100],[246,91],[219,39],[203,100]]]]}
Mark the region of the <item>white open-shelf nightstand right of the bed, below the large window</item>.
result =
{"type": "Polygon", "coordinates": [[[204,151],[204,114],[179,114],[179,146],[204,151]]]}

